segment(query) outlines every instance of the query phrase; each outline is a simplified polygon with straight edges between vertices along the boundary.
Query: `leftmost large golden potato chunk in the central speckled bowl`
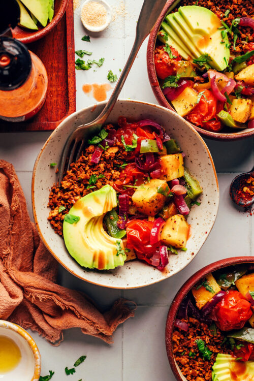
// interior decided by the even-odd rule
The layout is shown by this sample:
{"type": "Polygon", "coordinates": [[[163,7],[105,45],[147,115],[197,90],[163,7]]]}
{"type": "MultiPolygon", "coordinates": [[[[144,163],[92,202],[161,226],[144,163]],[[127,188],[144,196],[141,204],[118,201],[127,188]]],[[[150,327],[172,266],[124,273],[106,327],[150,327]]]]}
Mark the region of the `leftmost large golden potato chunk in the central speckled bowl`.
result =
{"type": "Polygon", "coordinates": [[[135,190],[132,201],[142,214],[155,215],[164,207],[166,196],[157,192],[160,186],[166,188],[168,184],[160,179],[152,179],[135,190]]]}

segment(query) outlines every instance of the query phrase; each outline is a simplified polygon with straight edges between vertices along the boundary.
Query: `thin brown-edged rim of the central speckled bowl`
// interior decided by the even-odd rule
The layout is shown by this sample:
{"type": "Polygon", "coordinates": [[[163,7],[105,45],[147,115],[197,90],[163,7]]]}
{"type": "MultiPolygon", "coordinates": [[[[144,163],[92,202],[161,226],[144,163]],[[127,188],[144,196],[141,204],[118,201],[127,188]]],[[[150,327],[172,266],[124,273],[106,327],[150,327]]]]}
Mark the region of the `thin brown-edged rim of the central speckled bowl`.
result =
{"type": "MultiPolygon", "coordinates": [[[[144,102],[144,101],[136,101],[136,100],[131,100],[131,99],[118,99],[117,102],[127,102],[127,103],[138,103],[138,104],[141,104],[141,105],[148,105],[148,106],[152,106],[152,107],[155,107],[155,108],[158,108],[158,109],[163,109],[163,110],[167,110],[167,112],[171,113],[172,115],[176,116],[177,118],[180,118],[182,120],[183,123],[186,123],[188,124],[188,128],[192,129],[193,132],[195,133],[195,135],[197,136],[197,138],[201,141],[201,143],[203,144],[203,146],[205,147],[207,153],[208,153],[208,156],[210,158],[210,162],[211,162],[211,166],[212,166],[212,169],[213,169],[213,173],[214,173],[214,176],[215,176],[215,181],[216,181],[216,189],[217,189],[217,197],[218,197],[218,203],[217,203],[217,207],[216,207],[216,211],[215,211],[215,217],[214,217],[214,220],[213,220],[213,224],[211,226],[211,229],[209,231],[209,234],[214,226],[214,223],[215,223],[215,220],[216,220],[216,217],[217,217],[217,213],[218,213],[218,207],[219,207],[219,185],[218,185],[218,178],[217,178],[217,173],[216,173],[216,170],[215,170],[215,166],[214,166],[214,163],[213,163],[213,159],[212,159],[212,155],[209,151],[209,148],[207,147],[205,141],[202,139],[202,137],[197,133],[197,131],[193,128],[193,126],[190,126],[189,123],[181,118],[177,113],[175,112],[172,112],[172,110],[169,110],[163,106],[160,106],[160,105],[156,105],[154,103],[148,103],[148,102],[144,102]]],[[[165,278],[161,278],[160,280],[155,280],[155,281],[150,281],[149,283],[147,284],[143,284],[143,285],[140,285],[140,286],[136,286],[136,287],[113,287],[113,286],[110,286],[110,285],[104,285],[104,284],[101,284],[101,283],[98,283],[98,282],[94,282],[94,281],[91,281],[89,279],[85,279],[84,277],[80,276],[79,274],[76,274],[75,271],[71,270],[65,263],[63,263],[58,257],[57,255],[53,252],[53,250],[51,250],[49,244],[47,243],[46,239],[44,238],[42,232],[41,232],[41,229],[40,229],[40,226],[39,226],[39,222],[38,222],[38,218],[37,218],[37,213],[36,213],[36,207],[35,207],[35,174],[36,174],[36,170],[37,170],[37,165],[40,161],[40,157],[42,155],[42,152],[44,151],[44,149],[47,147],[47,145],[50,143],[50,140],[51,138],[58,133],[58,130],[60,130],[62,128],[62,125],[69,119],[72,119],[73,117],[75,118],[75,116],[79,113],[81,113],[82,111],[86,110],[86,109],[89,109],[89,108],[94,108],[94,107],[97,107],[99,105],[106,105],[107,101],[103,101],[103,102],[99,102],[95,105],[90,105],[90,106],[87,106],[85,107],[84,109],[81,109],[81,110],[78,110],[78,111],[75,111],[74,113],[72,113],[71,115],[69,115],[67,118],[65,118],[63,121],[61,121],[61,123],[57,126],[57,128],[52,132],[52,134],[49,136],[49,138],[46,140],[46,142],[44,143],[41,151],[39,152],[38,156],[37,156],[37,159],[35,161],[35,164],[34,164],[34,169],[33,169],[33,176],[32,176],[32,181],[31,181],[31,201],[32,201],[32,209],[33,209],[33,216],[34,216],[34,220],[35,220],[35,226],[36,226],[36,229],[39,233],[39,236],[42,240],[42,242],[44,243],[45,247],[48,249],[48,251],[52,254],[52,256],[60,263],[61,266],[63,266],[66,270],[68,270],[71,274],[75,275],[76,277],[84,280],[84,281],[87,281],[89,283],[92,283],[92,284],[96,284],[96,285],[100,285],[102,287],[106,287],[106,288],[113,288],[113,289],[118,289],[118,290],[126,290],[126,289],[138,289],[138,288],[141,288],[141,287],[146,287],[147,285],[151,285],[151,284],[154,284],[154,283],[158,283],[164,279],[167,279],[167,277],[165,278]]],[[[209,236],[209,234],[206,234],[205,236],[205,240],[203,242],[203,244],[205,243],[207,237],[209,236]]],[[[200,246],[200,249],[201,247],[203,246],[203,244],[200,246]]],[[[200,250],[199,249],[199,250],[200,250]]],[[[199,252],[199,251],[198,251],[199,252]]],[[[198,252],[196,253],[196,255],[198,254],[198,252]]],[[[192,262],[193,259],[196,257],[193,256],[193,258],[189,261],[192,262]]],[[[188,264],[189,264],[188,263],[188,264]]],[[[186,266],[185,266],[186,267],[186,266]]],[[[179,269],[174,275],[176,275],[179,271],[181,271],[181,269],[179,269]]],[[[171,275],[172,276],[172,275],[171,275]]]]}

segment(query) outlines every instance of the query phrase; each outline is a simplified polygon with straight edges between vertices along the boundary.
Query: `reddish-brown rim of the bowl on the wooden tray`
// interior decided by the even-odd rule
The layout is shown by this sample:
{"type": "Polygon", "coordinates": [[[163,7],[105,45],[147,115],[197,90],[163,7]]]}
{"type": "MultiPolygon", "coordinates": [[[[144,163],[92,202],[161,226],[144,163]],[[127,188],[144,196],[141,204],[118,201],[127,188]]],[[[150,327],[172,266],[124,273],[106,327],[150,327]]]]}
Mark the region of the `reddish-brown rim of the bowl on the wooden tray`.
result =
{"type": "MultiPolygon", "coordinates": [[[[58,12],[53,16],[53,19],[42,29],[31,31],[31,34],[26,37],[17,38],[18,41],[22,42],[23,44],[30,44],[31,42],[35,42],[37,40],[40,40],[41,38],[45,37],[61,20],[62,16],[66,12],[66,8],[68,6],[69,0],[60,0],[61,5],[59,7],[58,12]]],[[[70,0],[71,1],[71,0],[70,0]]],[[[22,28],[18,25],[19,28],[22,28]]],[[[15,28],[13,29],[15,30],[15,28]]],[[[29,30],[25,29],[24,30],[29,30]]]]}

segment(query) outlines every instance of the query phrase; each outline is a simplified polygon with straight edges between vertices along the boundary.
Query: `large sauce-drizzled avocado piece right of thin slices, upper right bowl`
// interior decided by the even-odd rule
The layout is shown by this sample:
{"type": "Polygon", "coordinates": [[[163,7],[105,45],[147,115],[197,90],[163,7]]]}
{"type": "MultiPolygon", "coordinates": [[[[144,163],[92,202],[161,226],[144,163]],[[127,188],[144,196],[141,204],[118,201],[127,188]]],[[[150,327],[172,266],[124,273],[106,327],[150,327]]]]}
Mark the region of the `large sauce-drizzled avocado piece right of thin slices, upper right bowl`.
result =
{"type": "Polygon", "coordinates": [[[219,28],[223,25],[219,18],[209,9],[194,5],[180,7],[178,12],[185,21],[181,25],[182,29],[189,34],[189,38],[202,54],[207,53],[211,57],[209,63],[212,68],[219,71],[226,69],[230,56],[230,50],[226,47],[229,40],[227,34],[224,39],[221,37],[223,29],[219,28]],[[198,38],[197,35],[202,37],[198,38]]]}

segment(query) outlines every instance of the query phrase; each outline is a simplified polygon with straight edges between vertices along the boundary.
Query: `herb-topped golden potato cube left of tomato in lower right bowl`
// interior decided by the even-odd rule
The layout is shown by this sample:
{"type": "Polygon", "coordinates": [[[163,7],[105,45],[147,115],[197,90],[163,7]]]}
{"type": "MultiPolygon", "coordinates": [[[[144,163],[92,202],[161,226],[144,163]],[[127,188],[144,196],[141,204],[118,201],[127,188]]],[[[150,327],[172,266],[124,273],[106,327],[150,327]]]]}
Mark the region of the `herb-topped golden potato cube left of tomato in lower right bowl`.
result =
{"type": "Polygon", "coordinates": [[[192,289],[197,307],[201,309],[204,305],[220,291],[220,287],[212,274],[206,275],[202,281],[192,289]],[[210,291],[209,291],[210,290],[210,291]]]}

